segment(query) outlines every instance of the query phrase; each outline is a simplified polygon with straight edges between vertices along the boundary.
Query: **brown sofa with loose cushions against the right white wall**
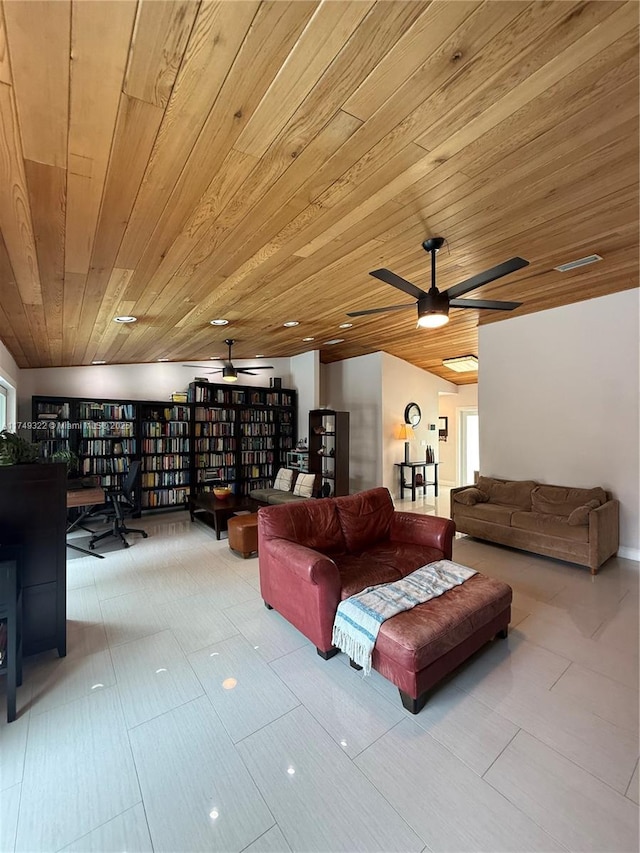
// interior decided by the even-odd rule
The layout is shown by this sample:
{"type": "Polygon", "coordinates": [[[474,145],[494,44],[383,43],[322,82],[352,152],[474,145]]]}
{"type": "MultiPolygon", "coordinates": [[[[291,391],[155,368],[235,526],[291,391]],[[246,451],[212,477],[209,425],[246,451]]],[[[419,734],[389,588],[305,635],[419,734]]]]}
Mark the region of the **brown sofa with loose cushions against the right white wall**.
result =
{"type": "Polygon", "coordinates": [[[451,490],[458,533],[598,568],[618,550],[620,505],[604,489],[479,477],[451,490]]]}

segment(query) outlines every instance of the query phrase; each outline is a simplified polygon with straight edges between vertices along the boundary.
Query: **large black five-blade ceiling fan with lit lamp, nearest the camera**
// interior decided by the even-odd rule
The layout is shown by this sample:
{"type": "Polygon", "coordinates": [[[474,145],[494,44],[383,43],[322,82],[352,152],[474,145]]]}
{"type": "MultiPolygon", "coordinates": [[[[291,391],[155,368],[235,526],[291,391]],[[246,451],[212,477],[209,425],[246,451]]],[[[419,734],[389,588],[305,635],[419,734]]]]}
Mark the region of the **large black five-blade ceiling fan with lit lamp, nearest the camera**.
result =
{"type": "Polygon", "coordinates": [[[448,290],[442,293],[436,287],[436,253],[442,248],[444,237],[430,237],[422,244],[425,252],[431,255],[431,287],[428,291],[420,290],[415,284],[411,284],[399,275],[396,275],[391,270],[379,269],[373,270],[369,275],[379,278],[385,284],[390,284],[397,287],[404,293],[413,296],[415,303],[410,305],[390,305],[387,308],[369,308],[366,311],[349,311],[348,317],[364,317],[367,314],[382,314],[386,311],[403,311],[405,308],[413,308],[414,304],[418,309],[418,326],[423,329],[437,329],[438,326],[444,326],[449,322],[449,308],[490,308],[492,310],[513,311],[522,305],[522,302],[498,302],[491,299],[459,299],[470,290],[475,290],[476,287],[482,287],[483,284],[489,284],[490,281],[495,281],[497,278],[502,278],[504,275],[515,272],[523,267],[529,266],[529,261],[524,258],[511,258],[497,267],[492,267],[489,270],[474,275],[466,281],[461,281],[459,284],[454,284],[448,290]]]}

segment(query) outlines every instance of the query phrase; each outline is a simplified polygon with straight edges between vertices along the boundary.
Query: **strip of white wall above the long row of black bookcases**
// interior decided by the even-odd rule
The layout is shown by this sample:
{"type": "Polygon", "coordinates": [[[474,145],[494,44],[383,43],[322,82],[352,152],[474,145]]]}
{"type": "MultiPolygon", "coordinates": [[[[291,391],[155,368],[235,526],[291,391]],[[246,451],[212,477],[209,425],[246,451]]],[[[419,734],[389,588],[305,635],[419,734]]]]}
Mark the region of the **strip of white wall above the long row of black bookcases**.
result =
{"type": "MultiPolygon", "coordinates": [[[[21,371],[19,409],[23,420],[31,420],[31,397],[105,397],[123,400],[166,400],[174,391],[186,390],[194,376],[208,375],[211,382],[219,382],[220,374],[206,374],[217,362],[194,362],[202,370],[181,364],[161,362],[154,364],[100,364],[89,367],[45,367],[21,371]]],[[[236,367],[256,364],[253,360],[234,359],[236,367]]],[[[238,384],[268,387],[272,376],[282,379],[283,388],[292,385],[288,358],[269,359],[273,370],[261,370],[255,376],[240,377],[238,384]]]]}

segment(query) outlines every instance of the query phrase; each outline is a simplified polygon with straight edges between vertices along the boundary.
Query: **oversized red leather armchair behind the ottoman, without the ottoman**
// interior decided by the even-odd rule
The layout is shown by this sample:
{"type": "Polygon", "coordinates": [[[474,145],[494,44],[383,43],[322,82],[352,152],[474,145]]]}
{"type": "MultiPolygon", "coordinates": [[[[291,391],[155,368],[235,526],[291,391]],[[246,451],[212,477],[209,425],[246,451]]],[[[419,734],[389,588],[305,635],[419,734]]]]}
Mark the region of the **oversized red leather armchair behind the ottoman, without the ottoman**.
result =
{"type": "Polygon", "coordinates": [[[337,654],[331,633],[339,602],[451,559],[454,531],[448,518],[396,512],[383,488],[261,507],[262,597],[329,658],[337,654]]]}

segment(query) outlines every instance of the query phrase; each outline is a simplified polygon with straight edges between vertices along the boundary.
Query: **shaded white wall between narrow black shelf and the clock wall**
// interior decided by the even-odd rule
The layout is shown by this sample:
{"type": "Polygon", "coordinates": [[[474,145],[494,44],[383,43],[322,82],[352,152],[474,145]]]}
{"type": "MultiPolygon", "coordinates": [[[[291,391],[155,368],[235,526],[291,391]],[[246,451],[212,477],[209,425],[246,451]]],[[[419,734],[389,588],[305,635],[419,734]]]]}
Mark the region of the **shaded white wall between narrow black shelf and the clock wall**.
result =
{"type": "Polygon", "coordinates": [[[321,402],[349,416],[349,491],[382,483],[382,353],[322,365],[321,402]]]}

